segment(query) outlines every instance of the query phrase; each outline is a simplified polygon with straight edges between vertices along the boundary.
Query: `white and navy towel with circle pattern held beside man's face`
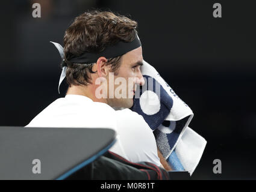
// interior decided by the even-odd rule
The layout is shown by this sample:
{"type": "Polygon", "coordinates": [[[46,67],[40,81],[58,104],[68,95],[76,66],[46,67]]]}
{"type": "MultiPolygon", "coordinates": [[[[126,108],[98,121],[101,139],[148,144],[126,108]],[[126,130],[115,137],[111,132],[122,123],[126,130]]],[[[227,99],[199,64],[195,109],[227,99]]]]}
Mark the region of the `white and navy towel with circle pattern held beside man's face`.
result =
{"type": "Polygon", "coordinates": [[[207,143],[188,127],[193,112],[148,62],[143,61],[141,71],[145,85],[131,110],[142,115],[154,131],[157,146],[170,166],[192,175],[207,143]]]}

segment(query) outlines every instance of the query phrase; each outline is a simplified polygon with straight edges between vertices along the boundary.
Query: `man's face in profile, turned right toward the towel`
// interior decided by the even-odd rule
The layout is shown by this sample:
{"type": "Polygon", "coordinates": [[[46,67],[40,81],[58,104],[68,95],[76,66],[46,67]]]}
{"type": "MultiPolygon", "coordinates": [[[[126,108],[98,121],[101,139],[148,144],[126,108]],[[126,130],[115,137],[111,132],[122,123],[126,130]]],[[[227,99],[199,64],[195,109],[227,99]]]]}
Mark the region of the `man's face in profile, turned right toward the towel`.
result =
{"type": "Polygon", "coordinates": [[[133,106],[134,92],[139,85],[143,85],[140,66],[143,63],[142,47],[131,50],[121,58],[117,74],[108,74],[107,104],[111,107],[130,108],[133,106]],[[111,79],[112,78],[112,79],[111,79]],[[112,97],[109,97],[112,94],[112,97]]]}

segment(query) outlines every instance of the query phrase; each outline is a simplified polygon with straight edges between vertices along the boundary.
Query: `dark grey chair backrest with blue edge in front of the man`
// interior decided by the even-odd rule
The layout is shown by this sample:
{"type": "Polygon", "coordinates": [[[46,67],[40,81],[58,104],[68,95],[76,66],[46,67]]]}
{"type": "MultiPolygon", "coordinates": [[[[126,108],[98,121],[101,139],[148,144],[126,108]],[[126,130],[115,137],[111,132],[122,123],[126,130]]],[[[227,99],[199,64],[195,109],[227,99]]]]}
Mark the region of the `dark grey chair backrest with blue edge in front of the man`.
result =
{"type": "Polygon", "coordinates": [[[115,141],[108,128],[0,127],[0,179],[65,179],[115,141]]]}

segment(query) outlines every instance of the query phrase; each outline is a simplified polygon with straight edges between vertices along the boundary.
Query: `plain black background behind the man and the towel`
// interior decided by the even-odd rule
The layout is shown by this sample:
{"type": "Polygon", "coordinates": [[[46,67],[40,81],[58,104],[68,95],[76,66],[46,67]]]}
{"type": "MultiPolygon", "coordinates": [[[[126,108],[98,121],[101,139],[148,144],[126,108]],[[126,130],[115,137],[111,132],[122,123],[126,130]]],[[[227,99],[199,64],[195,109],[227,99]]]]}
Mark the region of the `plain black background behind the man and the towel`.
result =
{"type": "Polygon", "coordinates": [[[25,126],[58,97],[60,56],[75,16],[110,9],[139,22],[143,58],[195,113],[207,140],[193,179],[256,179],[256,11],[252,1],[38,0],[1,5],[1,126],[25,126]],[[39,2],[42,17],[32,17],[39,2]],[[213,17],[213,4],[222,18],[213,17]],[[222,174],[213,173],[213,160],[222,174]]]}

